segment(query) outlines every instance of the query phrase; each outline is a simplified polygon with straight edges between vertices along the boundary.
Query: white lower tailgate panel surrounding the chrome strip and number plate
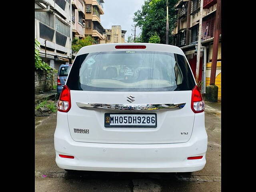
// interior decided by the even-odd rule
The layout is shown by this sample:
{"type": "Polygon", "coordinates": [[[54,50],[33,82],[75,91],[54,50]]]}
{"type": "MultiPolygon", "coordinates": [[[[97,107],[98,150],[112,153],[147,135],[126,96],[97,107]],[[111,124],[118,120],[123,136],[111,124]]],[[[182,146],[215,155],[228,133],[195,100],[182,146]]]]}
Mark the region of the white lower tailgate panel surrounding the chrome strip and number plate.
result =
{"type": "MultiPolygon", "coordinates": [[[[75,141],[124,144],[156,144],[187,142],[192,134],[194,112],[191,110],[191,91],[176,92],[87,92],[71,90],[72,107],[68,112],[70,134],[75,141]],[[170,111],[148,110],[139,113],[156,113],[156,128],[107,128],[104,114],[111,111],[96,111],[79,108],[80,103],[130,104],[127,96],[132,94],[132,104],[177,104],[184,108],[170,111]],[[75,130],[88,130],[77,132],[75,130]]],[[[120,111],[123,113],[124,111],[120,111]]],[[[116,112],[115,112],[116,113],[116,112]]],[[[119,112],[118,112],[119,113],[119,112]]],[[[128,112],[134,113],[134,112],[128,112]]],[[[138,113],[138,111],[136,111],[138,113]]]]}

